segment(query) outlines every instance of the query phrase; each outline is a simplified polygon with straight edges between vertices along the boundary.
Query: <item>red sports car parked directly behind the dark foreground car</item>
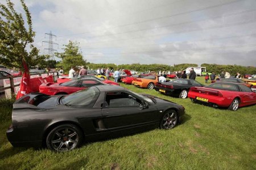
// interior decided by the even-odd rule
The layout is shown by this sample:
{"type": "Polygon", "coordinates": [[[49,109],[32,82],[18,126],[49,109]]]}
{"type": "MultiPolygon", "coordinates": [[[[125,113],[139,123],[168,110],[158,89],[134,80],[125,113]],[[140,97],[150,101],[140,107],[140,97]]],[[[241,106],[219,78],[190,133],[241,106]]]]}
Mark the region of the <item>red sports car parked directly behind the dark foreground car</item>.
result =
{"type": "Polygon", "coordinates": [[[39,92],[47,95],[72,94],[97,85],[109,85],[94,78],[71,80],[65,83],[43,83],[39,86],[39,92]]]}

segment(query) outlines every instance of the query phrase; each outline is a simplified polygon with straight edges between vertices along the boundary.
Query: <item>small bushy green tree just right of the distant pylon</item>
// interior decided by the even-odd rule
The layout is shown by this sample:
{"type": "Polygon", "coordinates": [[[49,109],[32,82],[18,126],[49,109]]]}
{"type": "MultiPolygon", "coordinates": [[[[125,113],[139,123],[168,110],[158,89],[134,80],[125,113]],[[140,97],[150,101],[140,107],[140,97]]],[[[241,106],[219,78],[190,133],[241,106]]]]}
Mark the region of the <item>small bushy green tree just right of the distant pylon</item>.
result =
{"type": "Polygon", "coordinates": [[[82,58],[82,53],[80,52],[79,43],[69,41],[68,45],[63,45],[63,53],[56,53],[58,58],[62,61],[57,63],[57,66],[63,67],[64,71],[68,71],[72,66],[85,66],[86,60],[82,58]]]}

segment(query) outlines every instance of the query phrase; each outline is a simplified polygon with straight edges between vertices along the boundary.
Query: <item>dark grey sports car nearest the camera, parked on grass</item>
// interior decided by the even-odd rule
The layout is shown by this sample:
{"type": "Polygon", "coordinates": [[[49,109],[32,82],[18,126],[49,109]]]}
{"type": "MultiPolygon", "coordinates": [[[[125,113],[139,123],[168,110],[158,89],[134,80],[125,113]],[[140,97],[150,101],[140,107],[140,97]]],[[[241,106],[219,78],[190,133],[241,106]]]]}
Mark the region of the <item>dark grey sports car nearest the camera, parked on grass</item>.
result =
{"type": "Polygon", "coordinates": [[[71,95],[32,93],[16,100],[7,138],[13,146],[72,150],[83,139],[174,128],[184,107],[119,86],[93,86],[71,95]]]}

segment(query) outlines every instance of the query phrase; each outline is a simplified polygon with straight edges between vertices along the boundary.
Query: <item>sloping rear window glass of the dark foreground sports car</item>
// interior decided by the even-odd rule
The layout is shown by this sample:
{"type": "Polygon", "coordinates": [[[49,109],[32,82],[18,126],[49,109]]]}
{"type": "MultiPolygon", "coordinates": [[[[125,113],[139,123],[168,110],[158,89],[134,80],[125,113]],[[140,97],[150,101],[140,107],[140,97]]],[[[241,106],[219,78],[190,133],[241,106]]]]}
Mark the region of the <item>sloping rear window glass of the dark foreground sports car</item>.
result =
{"type": "Polygon", "coordinates": [[[84,107],[93,104],[98,99],[99,95],[100,91],[97,87],[90,87],[63,97],[61,102],[64,105],[84,107]]]}

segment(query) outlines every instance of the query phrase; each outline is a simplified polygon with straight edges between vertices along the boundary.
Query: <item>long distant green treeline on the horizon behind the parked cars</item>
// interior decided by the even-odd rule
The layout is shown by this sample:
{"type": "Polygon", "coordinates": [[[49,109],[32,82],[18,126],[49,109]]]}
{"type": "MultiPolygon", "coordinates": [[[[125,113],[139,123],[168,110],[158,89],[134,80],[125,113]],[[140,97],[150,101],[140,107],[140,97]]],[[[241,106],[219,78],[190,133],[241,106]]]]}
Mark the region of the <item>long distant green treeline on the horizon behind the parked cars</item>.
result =
{"type": "MultiPolygon", "coordinates": [[[[187,67],[198,67],[197,64],[193,63],[182,63],[179,65],[163,65],[163,64],[140,64],[140,63],[133,63],[133,64],[126,64],[126,65],[115,65],[114,63],[87,63],[89,69],[96,70],[98,68],[107,68],[109,67],[110,70],[120,70],[120,69],[127,69],[127,70],[135,70],[139,72],[146,72],[146,71],[182,71],[185,70],[187,67]]],[[[207,67],[207,72],[209,73],[216,73],[220,74],[221,71],[228,71],[231,75],[235,75],[236,73],[240,74],[256,74],[256,67],[252,66],[238,66],[238,65],[216,65],[216,64],[208,64],[203,63],[201,67],[207,67]]]]}

